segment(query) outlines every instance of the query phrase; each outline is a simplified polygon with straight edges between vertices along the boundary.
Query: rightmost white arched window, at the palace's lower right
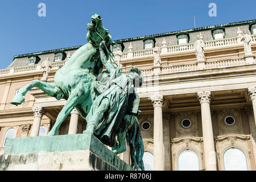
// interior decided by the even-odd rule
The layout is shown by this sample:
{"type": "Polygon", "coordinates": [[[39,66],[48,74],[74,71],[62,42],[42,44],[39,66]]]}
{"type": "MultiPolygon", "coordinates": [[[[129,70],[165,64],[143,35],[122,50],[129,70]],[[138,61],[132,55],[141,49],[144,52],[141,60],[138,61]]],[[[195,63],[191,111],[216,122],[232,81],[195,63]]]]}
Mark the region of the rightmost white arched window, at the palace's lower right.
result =
{"type": "Polygon", "coordinates": [[[228,148],[223,155],[225,171],[247,171],[245,153],[239,148],[228,148]]]}

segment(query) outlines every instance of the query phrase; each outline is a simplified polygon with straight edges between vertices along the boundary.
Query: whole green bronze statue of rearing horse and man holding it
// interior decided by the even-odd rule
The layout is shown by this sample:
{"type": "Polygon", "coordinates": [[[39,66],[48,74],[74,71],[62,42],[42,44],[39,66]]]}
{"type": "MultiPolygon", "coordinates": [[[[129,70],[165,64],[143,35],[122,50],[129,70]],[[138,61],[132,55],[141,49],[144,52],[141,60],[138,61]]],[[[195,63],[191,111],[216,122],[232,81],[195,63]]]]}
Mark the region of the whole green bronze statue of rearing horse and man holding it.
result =
{"type": "Polygon", "coordinates": [[[131,68],[126,75],[115,67],[108,30],[102,26],[100,15],[93,15],[88,23],[88,43],[77,49],[67,63],[55,74],[55,84],[33,80],[15,95],[11,104],[24,101],[28,90],[37,87],[57,100],[67,100],[56,118],[48,136],[56,135],[64,119],[76,107],[86,119],[83,133],[94,134],[102,143],[112,147],[115,154],[126,151],[125,140],[130,146],[131,167],[144,170],[144,146],[137,116],[139,97],[135,87],[143,83],[143,74],[131,68]],[[108,60],[112,61],[108,63],[108,60]],[[102,73],[103,65],[106,71],[102,73]]]}

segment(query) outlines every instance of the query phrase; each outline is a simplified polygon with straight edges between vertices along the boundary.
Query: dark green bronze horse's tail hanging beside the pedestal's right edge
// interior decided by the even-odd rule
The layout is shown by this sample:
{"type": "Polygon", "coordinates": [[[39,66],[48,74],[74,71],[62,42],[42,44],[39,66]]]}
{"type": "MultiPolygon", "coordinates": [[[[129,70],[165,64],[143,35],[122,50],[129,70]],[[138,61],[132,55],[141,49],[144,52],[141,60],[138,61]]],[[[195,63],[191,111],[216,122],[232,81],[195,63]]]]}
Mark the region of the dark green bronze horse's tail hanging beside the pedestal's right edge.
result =
{"type": "Polygon", "coordinates": [[[127,143],[130,146],[131,167],[135,170],[141,169],[144,171],[143,154],[144,144],[141,137],[141,129],[139,129],[139,122],[136,117],[130,130],[127,132],[127,143]]]}

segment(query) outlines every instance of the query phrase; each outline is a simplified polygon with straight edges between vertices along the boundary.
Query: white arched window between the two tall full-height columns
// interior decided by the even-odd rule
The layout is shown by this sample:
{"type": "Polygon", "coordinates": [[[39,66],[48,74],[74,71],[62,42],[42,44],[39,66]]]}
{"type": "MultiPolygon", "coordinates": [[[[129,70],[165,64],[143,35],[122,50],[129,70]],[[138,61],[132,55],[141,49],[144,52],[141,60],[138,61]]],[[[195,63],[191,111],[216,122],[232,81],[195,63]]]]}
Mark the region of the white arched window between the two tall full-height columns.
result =
{"type": "Polygon", "coordinates": [[[184,150],[180,152],[178,157],[179,171],[199,171],[199,157],[192,150],[184,150]]]}

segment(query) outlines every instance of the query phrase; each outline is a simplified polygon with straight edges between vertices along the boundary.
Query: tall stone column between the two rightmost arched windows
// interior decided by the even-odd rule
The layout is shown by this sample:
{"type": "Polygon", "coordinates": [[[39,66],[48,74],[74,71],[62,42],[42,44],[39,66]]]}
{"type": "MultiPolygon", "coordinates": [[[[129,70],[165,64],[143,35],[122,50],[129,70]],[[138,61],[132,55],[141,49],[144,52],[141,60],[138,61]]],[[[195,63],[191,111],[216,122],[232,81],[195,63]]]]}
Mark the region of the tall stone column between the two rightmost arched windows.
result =
{"type": "Polygon", "coordinates": [[[212,118],[210,115],[210,91],[197,92],[197,97],[201,104],[205,168],[207,171],[217,171],[212,118]]]}

